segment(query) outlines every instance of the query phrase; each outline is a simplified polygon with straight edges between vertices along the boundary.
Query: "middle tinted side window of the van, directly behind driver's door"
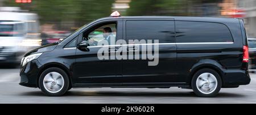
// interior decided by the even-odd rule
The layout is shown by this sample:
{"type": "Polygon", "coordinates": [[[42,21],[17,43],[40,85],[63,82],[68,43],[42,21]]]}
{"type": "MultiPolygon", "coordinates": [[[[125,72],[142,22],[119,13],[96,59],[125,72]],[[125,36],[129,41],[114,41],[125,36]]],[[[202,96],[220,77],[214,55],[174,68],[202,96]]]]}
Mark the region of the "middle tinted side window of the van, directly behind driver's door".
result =
{"type": "Polygon", "coordinates": [[[159,43],[174,42],[174,21],[127,20],[126,40],[159,40],[159,43]]]}

